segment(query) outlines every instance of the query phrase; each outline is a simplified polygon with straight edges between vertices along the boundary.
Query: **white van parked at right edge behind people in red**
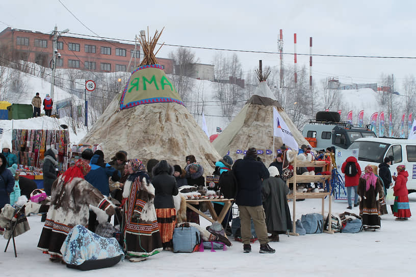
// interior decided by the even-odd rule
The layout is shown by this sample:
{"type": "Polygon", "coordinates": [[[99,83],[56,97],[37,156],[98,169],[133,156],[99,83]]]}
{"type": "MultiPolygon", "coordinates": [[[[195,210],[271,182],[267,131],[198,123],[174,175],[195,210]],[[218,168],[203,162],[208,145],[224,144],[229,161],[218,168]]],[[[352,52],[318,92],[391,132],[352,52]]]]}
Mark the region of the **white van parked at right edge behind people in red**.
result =
{"type": "MultiPolygon", "coordinates": [[[[367,164],[379,165],[385,157],[393,157],[390,165],[392,176],[399,164],[409,173],[407,189],[416,192],[416,140],[404,138],[367,137],[357,138],[348,149],[358,149],[358,163],[363,171],[367,164]]],[[[396,172],[397,175],[397,172],[396,172]]]]}

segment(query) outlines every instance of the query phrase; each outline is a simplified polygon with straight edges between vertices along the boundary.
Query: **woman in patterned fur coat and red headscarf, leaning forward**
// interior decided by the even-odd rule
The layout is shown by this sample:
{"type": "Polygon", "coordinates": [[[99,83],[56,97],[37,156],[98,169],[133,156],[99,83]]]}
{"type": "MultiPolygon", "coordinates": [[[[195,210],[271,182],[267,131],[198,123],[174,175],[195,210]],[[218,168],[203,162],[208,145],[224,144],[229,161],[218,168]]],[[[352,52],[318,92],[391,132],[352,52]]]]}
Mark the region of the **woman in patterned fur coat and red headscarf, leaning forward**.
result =
{"type": "MultiPolygon", "coordinates": [[[[84,176],[91,167],[77,160],[52,185],[52,195],[38,249],[50,255],[51,261],[61,260],[61,246],[75,225],[87,226],[89,205],[114,214],[114,207],[84,176]]],[[[106,218],[107,219],[107,218],[106,218]]]]}

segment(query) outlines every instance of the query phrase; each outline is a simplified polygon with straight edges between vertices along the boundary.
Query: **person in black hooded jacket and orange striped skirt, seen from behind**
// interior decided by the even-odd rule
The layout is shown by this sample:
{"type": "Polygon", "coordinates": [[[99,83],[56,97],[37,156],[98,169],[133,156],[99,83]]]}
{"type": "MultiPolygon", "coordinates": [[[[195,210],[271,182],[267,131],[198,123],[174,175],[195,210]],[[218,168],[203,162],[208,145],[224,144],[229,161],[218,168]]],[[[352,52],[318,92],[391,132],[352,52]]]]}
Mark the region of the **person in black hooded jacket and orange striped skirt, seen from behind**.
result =
{"type": "Polygon", "coordinates": [[[161,160],[153,167],[154,208],[158,217],[163,249],[172,251],[173,230],[176,224],[176,210],[172,196],[178,194],[176,179],[172,176],[173,167],[161,160]]]}

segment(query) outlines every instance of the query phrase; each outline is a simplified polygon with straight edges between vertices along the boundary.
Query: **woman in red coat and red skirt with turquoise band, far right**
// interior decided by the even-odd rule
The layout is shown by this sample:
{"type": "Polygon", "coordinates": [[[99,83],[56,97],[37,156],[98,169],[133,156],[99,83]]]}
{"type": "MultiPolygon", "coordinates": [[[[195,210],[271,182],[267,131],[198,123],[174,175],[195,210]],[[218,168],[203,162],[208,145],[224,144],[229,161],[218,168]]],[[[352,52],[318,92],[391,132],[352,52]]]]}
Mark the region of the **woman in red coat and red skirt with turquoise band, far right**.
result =
{"type": "Polygon", "coordinates": [[[396,216],[396,220],[407,220],[411,216],[409,198],[407,196],[407,177],[409,174],[406,171],[406,167],[401,164],[397,168],[397,177],[395,179],[394,196],[395,204],[393,206],[393,214],[396,216]]]}

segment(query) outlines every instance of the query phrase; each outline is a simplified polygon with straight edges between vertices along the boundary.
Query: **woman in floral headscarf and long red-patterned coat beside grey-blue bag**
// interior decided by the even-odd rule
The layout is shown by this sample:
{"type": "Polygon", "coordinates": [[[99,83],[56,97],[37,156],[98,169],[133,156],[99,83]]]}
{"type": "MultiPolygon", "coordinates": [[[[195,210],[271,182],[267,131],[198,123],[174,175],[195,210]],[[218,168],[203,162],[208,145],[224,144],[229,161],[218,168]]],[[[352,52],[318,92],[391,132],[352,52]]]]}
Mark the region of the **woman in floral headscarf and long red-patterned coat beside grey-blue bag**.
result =
{"type": "Polygon", "coordinates": [[[154,187],[142,161],[127,161],[124,183],[124,226],[126,258],[148,257],[162,251],[162,238],[154,208],[154,187]]]}

